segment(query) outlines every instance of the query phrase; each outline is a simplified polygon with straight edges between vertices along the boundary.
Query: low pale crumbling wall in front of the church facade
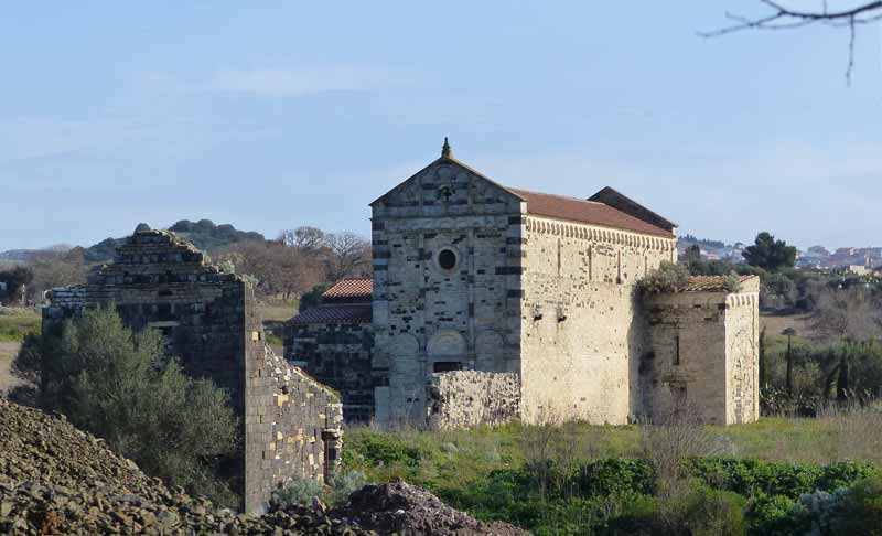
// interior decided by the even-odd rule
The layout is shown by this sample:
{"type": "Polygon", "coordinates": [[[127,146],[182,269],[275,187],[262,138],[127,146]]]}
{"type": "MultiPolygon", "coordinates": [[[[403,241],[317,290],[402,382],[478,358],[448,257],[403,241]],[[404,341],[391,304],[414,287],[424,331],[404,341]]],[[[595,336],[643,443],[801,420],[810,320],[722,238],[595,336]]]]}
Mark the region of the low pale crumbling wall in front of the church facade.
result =
{"type": "Polygon", "coordinates": [[[431,429],[497,426],[520,419],[517,373],[454,371],[432,374],[426,388],[431,429]]]}

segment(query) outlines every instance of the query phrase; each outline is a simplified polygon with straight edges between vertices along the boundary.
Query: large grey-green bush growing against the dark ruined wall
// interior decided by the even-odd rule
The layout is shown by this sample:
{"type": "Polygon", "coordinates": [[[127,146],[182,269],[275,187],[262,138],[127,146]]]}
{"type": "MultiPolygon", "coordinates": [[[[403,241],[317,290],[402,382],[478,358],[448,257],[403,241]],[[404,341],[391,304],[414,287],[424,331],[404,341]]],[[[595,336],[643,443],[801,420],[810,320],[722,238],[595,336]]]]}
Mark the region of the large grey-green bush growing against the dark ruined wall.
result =
{"type": "Polygon", "coordinates": [[[40,386],[44,409],[104,438],[146,473],[237,506],[228,479],[241,474],[238,421],[228,394],[184,375],[155,331],[133,333],[115,310],[89,310],[28,335],[13,369],[40,386]]]}

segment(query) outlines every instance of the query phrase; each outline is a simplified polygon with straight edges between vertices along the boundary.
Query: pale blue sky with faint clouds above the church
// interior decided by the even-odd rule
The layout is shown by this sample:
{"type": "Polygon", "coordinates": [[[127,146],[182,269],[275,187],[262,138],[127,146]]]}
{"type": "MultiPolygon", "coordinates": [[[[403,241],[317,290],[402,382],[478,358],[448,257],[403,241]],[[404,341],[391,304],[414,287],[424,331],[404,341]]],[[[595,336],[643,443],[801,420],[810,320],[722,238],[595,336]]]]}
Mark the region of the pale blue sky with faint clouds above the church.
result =
{"type": "Polygon", "coordinates": [[[696,36],[727,10],[762,13],[754,0],[9,4],[0,250],[203,217],[367,236],[367,203],[444,136],[504,184],[612,185],[682,233],[882,245],[879,26],[859,30],[848,87],[845,31],[696,36]]]}

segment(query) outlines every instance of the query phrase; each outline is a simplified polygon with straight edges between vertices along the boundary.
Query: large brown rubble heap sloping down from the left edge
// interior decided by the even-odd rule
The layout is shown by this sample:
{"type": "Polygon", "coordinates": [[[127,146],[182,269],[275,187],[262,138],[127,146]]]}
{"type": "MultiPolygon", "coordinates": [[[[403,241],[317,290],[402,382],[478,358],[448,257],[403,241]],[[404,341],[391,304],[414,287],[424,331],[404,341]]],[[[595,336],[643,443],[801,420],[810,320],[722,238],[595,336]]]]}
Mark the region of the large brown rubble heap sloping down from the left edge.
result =
{"type": "Polygon", "coordinates": [[[257,517],[169,490],[62,417],[0,398],[0,534],[375,534],[306,508],[257,517]]]}

